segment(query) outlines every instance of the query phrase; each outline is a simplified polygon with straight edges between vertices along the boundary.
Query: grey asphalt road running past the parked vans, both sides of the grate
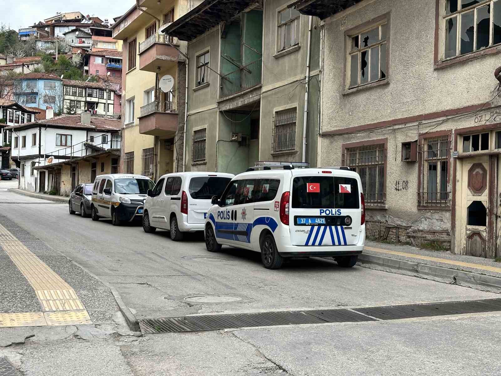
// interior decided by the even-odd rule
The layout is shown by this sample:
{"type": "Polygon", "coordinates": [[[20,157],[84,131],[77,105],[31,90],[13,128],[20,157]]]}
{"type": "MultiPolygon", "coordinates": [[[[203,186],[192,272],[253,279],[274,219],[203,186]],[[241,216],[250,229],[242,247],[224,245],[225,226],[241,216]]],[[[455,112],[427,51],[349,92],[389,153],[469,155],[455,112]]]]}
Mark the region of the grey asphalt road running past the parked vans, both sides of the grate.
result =
{"type": "MultiPolygon", "coordinates": [[[[223,247],[211,254],[201,236],[175,243],[167,232],[145,234],[140,225],[93,222],[70,215],[64,204],[19,196],[3,186],[0,182],[2,216],[114,286],[139,318],[498,297],[361,267],[342,269],[325,259],[267,270],[258,253],[223,247]],[[206,294],[240,300],[184,300],[206,294]]],[[[84,329],[2,329],[0,337],[36,336],[0,347],[0,357],[8,356],[30,376],[56,370],[117,376],[487,375],[501,370],[501,315],[495,313],[141,338],[112,335],[114,329],[104,324],[88,335],[76,335],[77,330],[84,329]]]]}

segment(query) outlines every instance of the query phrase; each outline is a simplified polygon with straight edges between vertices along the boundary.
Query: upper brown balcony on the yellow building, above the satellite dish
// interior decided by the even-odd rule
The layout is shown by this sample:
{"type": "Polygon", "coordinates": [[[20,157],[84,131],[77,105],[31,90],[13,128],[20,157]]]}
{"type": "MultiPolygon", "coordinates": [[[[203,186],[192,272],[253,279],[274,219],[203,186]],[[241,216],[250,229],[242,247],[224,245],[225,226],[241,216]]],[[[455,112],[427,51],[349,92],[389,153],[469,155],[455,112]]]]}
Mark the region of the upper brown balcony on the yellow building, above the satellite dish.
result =
{"type": "MultiPolygon", "coordinates": [[[[139,44],[139,69],[147,72],[158,72],[171,68],[178,61],[184,61],[181,54],[166,43],[169,38],[155,33],[139,44]]],[[[177,45],[179,41],[171,38],[170,43],[177,45]]]]}

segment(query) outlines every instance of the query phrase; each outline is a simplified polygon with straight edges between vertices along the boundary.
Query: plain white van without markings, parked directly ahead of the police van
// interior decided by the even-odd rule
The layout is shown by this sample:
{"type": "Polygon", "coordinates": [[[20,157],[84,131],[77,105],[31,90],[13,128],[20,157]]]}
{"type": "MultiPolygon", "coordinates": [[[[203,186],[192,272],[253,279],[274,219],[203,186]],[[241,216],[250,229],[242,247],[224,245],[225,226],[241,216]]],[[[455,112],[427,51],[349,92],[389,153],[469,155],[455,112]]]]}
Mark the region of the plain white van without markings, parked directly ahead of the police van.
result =
{"type": "Polygon", "coordinates": [[[178,172],[160,177],[144,203],[143,229],[169,230],[170,238],[203,231],[213,196],[220,197],[235,175],[221,172],[178,172]]]}

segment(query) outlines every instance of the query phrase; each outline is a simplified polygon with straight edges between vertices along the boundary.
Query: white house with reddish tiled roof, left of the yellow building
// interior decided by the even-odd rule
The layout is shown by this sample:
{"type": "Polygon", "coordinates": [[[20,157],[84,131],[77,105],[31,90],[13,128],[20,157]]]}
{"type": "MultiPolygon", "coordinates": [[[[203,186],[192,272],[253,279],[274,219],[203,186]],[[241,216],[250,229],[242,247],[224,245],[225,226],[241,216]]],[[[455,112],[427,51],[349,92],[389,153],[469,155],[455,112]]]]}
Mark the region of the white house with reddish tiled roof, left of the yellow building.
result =
{"type": "Polygon", "coordinates": [[[120,160],[120,120],[62,115],[9,126],[11,158],[21,169],[20,187],[69,196],[79,183],[116,173],[120,160]]]}

